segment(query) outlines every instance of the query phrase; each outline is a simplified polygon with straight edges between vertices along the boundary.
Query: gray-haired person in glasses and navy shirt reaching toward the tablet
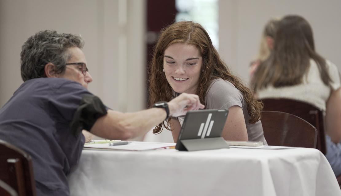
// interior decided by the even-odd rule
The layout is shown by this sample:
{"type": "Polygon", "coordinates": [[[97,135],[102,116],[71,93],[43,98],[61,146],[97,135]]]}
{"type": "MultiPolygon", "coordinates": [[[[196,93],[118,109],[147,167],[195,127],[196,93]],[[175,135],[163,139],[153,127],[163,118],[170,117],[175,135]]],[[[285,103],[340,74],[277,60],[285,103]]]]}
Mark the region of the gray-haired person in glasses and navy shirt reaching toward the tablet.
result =
{"type": "Polygon", "coordinates": [[[24,83],[0,109],[0,139],[32,157],[37,195],[70,195],[67,175],[79,161],[82,130],[102,138],[142,136],[170,116],[204,108],[197,95],[123,113],[106,107],[87,90],[92,77],[78,35],[45,30],[21,51],[24,83]]]}

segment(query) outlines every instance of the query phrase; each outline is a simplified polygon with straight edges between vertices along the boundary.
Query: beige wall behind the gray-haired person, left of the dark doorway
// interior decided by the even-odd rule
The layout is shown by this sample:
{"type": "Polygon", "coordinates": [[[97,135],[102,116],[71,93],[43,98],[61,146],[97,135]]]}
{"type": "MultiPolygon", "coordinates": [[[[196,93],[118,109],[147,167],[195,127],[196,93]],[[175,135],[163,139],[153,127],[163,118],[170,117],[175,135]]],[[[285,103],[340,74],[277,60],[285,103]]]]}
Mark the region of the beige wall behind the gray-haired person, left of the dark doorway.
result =
{"type": "Polygon", "coordinates": [[[81,34],[94,79],[89,90],[107,106],[145,107],[143,0],[0,0],[0,107],[23,82],[22,44],[45,29],[81,34]]]}

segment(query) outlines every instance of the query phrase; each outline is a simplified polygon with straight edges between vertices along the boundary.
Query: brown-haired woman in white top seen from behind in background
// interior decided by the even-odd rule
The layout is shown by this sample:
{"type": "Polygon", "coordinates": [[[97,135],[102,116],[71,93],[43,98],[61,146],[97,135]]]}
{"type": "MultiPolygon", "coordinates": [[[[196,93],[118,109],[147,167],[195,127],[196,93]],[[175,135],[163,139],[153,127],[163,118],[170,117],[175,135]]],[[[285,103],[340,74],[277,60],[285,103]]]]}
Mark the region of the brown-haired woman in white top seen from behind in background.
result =
{"type": "Polygon", "coordinates": [[[341,127],[335,125],[340,123],[339,117],[335,116],[341,111],[341,107],[337,107],[340,101],[328,101],[332,99],[330,95],[340,88],[339,71],[335,64],[315,51],[313,32],[306,19],[297,15],[281,19],[272,53],[256,69],[251,85],[259,99],[293,99],[325,111],[326,143],[329,144],[326,157],[335,174],[341,173],[341,152],[330,146],[331,143],[340,142],[338,132],[341,127]],[[327,102],[330,102],[328,108],[327,102]],[[339,156],[335,156],[336,152],[339,156]],[[329,156],[331,154],[335,158],[329,156]]]}

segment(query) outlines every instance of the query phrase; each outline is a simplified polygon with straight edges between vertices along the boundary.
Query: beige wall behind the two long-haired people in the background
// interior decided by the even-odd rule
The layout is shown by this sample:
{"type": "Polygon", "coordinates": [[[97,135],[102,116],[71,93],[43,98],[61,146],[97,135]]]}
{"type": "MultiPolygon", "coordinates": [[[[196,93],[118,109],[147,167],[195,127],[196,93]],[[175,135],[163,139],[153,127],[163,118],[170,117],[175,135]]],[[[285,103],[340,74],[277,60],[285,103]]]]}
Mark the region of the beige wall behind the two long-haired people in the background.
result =
{"type": "Polygon", "coordinates": [[[298,14],[311,24],[315,48],[341,69],[340,0],[220,0],[219,52],[231,69],[248,83],[248,67],[257,54],[268,19],[298,14]]]}

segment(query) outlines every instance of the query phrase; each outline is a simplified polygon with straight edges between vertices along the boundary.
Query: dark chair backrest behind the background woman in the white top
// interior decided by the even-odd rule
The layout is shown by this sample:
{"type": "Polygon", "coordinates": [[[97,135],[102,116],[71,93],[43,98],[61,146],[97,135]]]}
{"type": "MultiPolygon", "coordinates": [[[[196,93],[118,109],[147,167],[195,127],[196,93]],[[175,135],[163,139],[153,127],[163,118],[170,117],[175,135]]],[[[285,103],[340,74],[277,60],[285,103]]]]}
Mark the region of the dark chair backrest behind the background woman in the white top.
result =
{"type": "Polygon", "coordinates": [[[316,148],[319,149],[323,154],[327,153],[324,131],[324,115],[322,110],[309,103],[291,99],[262,99],[260,101],[264,104],[263,110],[281,111],[294,114],[316,127],[316,148]]]}

